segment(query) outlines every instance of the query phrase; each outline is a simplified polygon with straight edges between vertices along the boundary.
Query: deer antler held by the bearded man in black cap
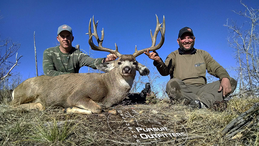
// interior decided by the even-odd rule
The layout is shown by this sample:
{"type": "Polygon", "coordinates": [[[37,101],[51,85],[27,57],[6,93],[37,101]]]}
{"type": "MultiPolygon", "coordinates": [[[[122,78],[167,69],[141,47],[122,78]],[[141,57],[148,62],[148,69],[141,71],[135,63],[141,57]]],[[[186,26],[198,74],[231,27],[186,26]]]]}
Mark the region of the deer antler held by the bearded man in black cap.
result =
{"type": "Polygon", "coordinates": [[[164,44],[164,42],[165,42],[165,16],[163,18],[163,23],[161,23],[161,24],[159,23],[157,15],[156,15],[156,17],[157,17],[157,26],[156,26],[156,29],[154,32],[154,36],[152,35],[152,31],[150,30],[152,46],[150,48],[145,48],[145,49],[142,49],[139,51],[137,51],[137,46],[136,46],[133,56],[137,57],[138,55],[143,54],[144,52],[147,52],[147,49],[149,49],[149,51],[155,51],[155,50],[161,48],[162,45],[164,44]],[[161,27],[162,24],[163,24],[163,27],[161,27]],[[157,35],[158,35],[159,31],[161,33],[161,40],[160,40],[159,44],[156,45],[156,39],[157,39],[157,35]]]}

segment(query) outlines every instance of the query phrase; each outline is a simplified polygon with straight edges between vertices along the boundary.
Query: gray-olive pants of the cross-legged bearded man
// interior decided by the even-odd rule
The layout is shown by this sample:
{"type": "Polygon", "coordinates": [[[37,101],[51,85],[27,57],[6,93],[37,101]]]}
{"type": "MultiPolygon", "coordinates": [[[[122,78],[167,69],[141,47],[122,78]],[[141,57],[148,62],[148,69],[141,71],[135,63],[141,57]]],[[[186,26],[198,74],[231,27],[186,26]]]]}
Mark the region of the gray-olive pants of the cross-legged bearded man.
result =
{"type": "MultiPolygon", "coordinates": [[[[232,92],[236,89],[237,82],[235,79],[230,78],[232,92]]],[[[171,99],[176,100],[199,100],[210,108],[216,101],[224,99],[222,91],[218,92],[220,81],[195,86],[185,84],[182,80],[171,79],[166,84],[166,92],[171,99]]],[[[229,95],[229,94],[228,94],[229,95]]],[[[227,97],[228,95],[225,95],[227,97]]]]}

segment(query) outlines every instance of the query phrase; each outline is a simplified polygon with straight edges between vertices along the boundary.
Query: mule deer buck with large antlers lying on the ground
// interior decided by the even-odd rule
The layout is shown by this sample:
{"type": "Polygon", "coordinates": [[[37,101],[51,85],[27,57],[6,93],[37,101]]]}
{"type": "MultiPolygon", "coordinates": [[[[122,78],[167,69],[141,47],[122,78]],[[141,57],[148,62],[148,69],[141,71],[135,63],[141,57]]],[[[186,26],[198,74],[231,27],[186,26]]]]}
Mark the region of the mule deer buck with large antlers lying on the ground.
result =
{"type": "MultiPolygon", "coordinates": [[[[157,17],[157,16],[156,16],[157,17]]],[[[136,70],[141,76],[149,74],[146,66],[136,61],[138,55],[143,54],[148,48],[137,51],[133,55],[121,55],[115,43],[115,50],[102,47],[104,30],[101,40],[97,34],[97,23],[94,22],[91,32],[91,19],[89,22],[89,45],[93,50],[110,52],[118,56],[117,60],[105,62],[97,66],[97,69],[105,73],[70,73],[55,77],[38,76],[25,80],[12,92],[11,105],[26,109],[45,110],[51,106],[65,108],[65,112],[91,114],[101,113],[116,103],[121,103],[132,87],[136,70]],[[98,46],[94,45],[92,37],[95,37],[98,46]]],[[[152,35],[152,46],[150,51],[161,48],[165,40],[165,17],[163,23],[159,23],[152,35]],[[162,25],[163,24],[163,25],[162,25]],[[162,25],[162,27],[161,27],[162,25]],[[156,38],[161,33],[161,40],[158,45],[156,38]]]]}

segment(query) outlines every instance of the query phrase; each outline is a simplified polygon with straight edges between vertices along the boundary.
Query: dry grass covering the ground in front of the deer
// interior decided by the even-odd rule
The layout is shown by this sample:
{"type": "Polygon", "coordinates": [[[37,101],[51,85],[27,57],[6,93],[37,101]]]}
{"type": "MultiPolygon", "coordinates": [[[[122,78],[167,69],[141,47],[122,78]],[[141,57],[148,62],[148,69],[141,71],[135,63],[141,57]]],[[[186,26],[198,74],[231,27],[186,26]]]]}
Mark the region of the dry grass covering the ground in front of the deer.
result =
{"type": "Polygon", "coordinates": [[[233,138],[224,139],[221,135],[223,128],[232,119],[256,102],[259,102],[258,98],[233,98],[228,101],[226,110],[218,112],[211,109],[192,109],[182,104],[171,105],[169,101],[162,100],[153,105],[121,104],[106,109],[101,114],[93,115],[63,113],[60,108],[47,109],[44,112],[11,109],[6,106],[6,103],[2,103],[0,105],[0,145],[132,145],[130,142],[134,141],[134,137],[123,122],[120,113],[109,114],[108,111],[133,107],[125,108],[128,111],[140,109],[136,119],[131,121],[126,118],[132,122],[131,127],[134,127],[136,121],[139,124],[148,124],[148,119],[143,118],[143,115],[148,115],[176,132],[183,131],[185,128],[188,134],[186,141],[182,137],[174,137],[169,143],[156,141],[139,145],[258,146],[258,123],[257,126],[247,128],[233,138]],[[158,112],[153,112],[152,109],[158,112]]]}

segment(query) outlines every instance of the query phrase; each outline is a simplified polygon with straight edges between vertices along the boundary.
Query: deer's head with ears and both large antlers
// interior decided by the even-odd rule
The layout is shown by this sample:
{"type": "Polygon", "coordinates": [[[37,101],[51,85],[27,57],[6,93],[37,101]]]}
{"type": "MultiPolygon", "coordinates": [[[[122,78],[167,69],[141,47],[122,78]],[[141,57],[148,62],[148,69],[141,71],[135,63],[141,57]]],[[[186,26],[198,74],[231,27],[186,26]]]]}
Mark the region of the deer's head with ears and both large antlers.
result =
{"type": "Polygon", "coordinates": [[[99,66],[97,66],[97,69],[100,69],[104,72],[109,72],[114,68],[118,68],[119,70],[121,70],[120,74],[123,77],[130,76],[130,75],[133,75],[135,77],[136,70],[139,71],[141,76],[148,75],[149,70],[147,69],[146,66],[137,62],[136,57],[143,54],[144,52],[146,52],[147,49],[149,49],[150,51],[155,51],[155,50],[161,48],[161,46],[164,44],[164,41],[165,41],[165,16],[163,17],[163,23],[161,23],[161,24],[159,23],[157,15],[156,15],[156,18],[157,18],[157,25],[156,25],[154,35],[152,34],[152,31],[150,30],[151,40],[152,40],[151,47],[138,51],[137,46],[136,46],[135,52],[133,53],[133,55],[122,55],[119,53],[118,46],[116,45],[116,43],[115,43],[115,50],[102,47],[102,43],[104,40],[104,29],[102,29],[102,31],[101,31],[102,34],[101,34],[101,40],[100,40],[98,37],[98,34],[97,34],[98,21],[97,21],[97,23],[95,23],[94,16],[93,16],[94,33],[92,33],[92,31],[91,31],[91,19],[89,22],[89,28],[88,28],[88,33],[87,33],[87,34],[89,34],[89,40],[88,40],[89,45],[91,46],[91,48],[93,50],[110,52],[112,54],[115,54],[117,57],[119,57],[119,59],[117,59],[116,61],[105,62],[105,63],[100,64],[99,66]],[[162,24],[163,24],[163,27],[161,27],[162,24]],[[158,45],[156,45],[156,38],[157,38],[159,31],[161,33],[161,40],[158,43],[158,45]],[[93,36],[96,38],[96,41],[98,42],[98,46],[94,45],[93,36]]]}

